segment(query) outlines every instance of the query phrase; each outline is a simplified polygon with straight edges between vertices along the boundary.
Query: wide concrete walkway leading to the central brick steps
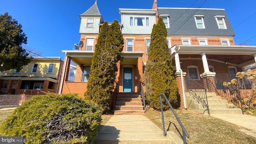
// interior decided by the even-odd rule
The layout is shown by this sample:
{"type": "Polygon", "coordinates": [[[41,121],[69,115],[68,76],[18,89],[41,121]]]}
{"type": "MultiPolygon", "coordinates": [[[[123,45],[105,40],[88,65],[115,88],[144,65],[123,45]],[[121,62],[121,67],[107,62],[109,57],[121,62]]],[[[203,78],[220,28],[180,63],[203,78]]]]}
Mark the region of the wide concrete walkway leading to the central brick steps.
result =
{"type": "Polygon", "coordinates": [[[143,115],[114,115],[100,130],[94,144],[180,144],[174,133],[167,136],[143,115]]]}

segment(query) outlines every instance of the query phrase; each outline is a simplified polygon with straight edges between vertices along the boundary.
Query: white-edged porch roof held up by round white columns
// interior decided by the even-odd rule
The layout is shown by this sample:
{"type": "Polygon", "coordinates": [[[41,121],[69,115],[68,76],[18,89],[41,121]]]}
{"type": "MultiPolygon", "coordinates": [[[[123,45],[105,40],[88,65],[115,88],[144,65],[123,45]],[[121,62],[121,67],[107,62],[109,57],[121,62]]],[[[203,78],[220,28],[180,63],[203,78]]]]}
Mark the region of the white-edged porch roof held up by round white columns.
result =
{"type": "Polygon", "coordinates": [[[202,58],[201,54],[206,53],[209,60],[228,62],[235,66],[246,66],[255,63],[254,54],[256,46],[240,45],[175,45],[170,48],[172,58],[178,52],[180,59],[202,58]]]}

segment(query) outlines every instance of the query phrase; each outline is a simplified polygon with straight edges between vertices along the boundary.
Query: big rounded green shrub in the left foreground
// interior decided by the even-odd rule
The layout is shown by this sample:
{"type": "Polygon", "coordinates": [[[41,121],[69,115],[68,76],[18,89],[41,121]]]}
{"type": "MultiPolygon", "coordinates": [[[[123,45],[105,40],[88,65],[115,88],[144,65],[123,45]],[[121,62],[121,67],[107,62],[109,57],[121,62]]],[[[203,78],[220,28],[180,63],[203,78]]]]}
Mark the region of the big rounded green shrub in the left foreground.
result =
{"type": "Polygon", "coordinates": [[[98,132],[101,110],[77,94],[47,93],[27,100],[0,126],[2,136],[23,136],[26,144],[88,144],[98,132]]]}

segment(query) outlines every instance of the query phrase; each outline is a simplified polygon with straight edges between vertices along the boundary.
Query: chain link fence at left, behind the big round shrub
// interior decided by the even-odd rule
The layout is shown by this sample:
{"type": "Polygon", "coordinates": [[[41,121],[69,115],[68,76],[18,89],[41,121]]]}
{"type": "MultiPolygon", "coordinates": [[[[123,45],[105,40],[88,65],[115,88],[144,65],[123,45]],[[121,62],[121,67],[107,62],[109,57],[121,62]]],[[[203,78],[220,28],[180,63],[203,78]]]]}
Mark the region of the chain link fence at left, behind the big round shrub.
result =
{"type": "Polygon", "coordinates": [[[20,106],[23,102],[31,99],[33,96],[34,95],[0,95],[0,109],[20,106]]]}

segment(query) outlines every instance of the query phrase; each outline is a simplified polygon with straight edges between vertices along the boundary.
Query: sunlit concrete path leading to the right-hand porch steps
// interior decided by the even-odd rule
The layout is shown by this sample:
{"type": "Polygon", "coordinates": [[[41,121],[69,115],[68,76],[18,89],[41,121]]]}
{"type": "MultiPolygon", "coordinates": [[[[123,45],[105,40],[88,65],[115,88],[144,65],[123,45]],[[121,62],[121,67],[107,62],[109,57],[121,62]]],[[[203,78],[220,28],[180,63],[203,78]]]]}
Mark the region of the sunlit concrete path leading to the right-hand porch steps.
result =
{"type": "Polygon", "coordinates": [[[210,114],[210,116],[242,126],[248,130],[240,129],[241,132],[256,138],[256,116],[246,114],[210,114]]]}

